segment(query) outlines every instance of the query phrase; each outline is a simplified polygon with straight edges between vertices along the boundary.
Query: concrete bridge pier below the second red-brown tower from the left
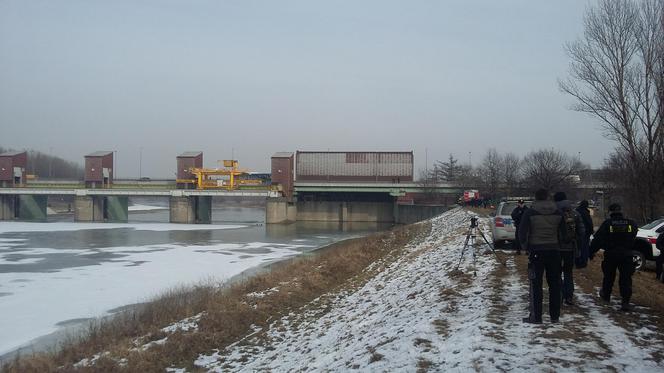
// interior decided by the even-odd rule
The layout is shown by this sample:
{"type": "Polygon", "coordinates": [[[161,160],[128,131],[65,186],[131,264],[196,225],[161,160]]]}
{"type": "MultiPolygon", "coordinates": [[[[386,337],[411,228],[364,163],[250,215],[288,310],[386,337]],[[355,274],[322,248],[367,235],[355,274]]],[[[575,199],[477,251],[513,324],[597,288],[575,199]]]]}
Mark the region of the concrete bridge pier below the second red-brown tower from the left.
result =
{"type": "Polygon", "coordinates": [[[76,196],[75,221],[105,221],[126,223],[129,218],[129,199],[123,196],[76,196]]]}

